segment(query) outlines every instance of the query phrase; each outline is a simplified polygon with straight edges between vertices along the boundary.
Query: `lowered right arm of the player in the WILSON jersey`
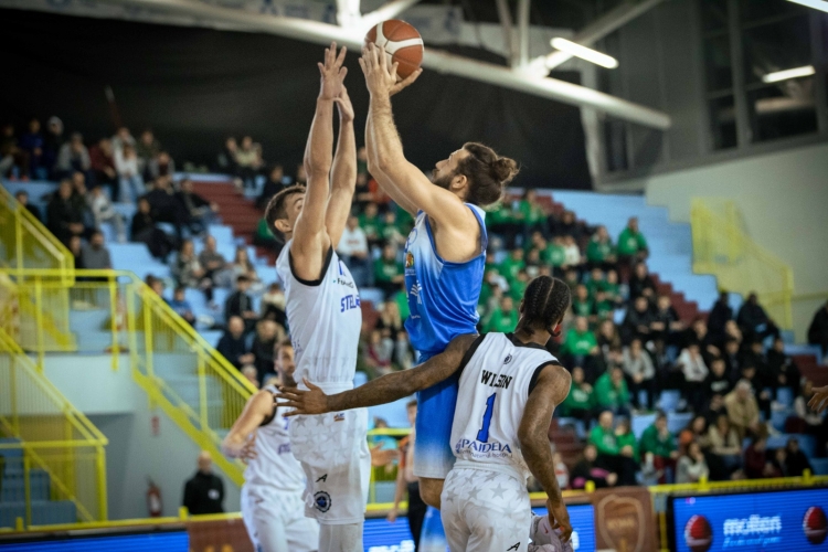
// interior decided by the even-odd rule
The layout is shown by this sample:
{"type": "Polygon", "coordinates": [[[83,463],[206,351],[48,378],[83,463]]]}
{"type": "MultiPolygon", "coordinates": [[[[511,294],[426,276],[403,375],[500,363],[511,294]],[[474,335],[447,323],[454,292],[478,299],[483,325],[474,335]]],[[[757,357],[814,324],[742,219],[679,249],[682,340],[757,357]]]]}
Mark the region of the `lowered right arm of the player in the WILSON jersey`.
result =
{"type": "Polygon", "coordinates": [[[523,418],[518,429],[520,448],[529,470],[546,491],[546,509],[553,529],[561,530],[565,542],[572,534],[570,516],[561,497],[561,488],[555,478],[555,463],[552,460],[552,446],[549,443],[549,424],[552,412],[570,392],[572,378],[563,367],[550,364],[541,371],[538,384],[529,395],[523,418]]]}

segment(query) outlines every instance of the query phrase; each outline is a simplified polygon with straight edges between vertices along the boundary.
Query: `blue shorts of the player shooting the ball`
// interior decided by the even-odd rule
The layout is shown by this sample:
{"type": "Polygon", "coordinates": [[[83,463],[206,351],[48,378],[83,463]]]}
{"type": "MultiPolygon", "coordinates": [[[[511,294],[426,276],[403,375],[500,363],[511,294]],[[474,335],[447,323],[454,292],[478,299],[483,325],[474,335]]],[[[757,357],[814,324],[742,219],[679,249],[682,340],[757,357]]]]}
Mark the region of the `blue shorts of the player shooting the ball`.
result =
{"type": "MultiPolygon", "coordinates": [[[[421,353],[420,362],[435,354],[421,353]]],[[[414,475],[445,479],[454,466],[452,452],[452,424],[457,405],[457,374],[417,393],[416,440],[414,445],[414,475]]]]}

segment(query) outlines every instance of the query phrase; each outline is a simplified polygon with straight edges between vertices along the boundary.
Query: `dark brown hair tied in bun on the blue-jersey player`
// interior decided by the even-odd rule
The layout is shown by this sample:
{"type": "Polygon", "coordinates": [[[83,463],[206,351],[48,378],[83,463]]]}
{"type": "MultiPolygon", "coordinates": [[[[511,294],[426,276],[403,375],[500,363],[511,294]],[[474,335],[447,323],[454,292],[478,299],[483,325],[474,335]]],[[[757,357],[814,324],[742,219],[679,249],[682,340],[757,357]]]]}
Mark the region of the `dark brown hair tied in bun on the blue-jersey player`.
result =
{"type": "Polygon", "coordinates": [[[498,156],[482,144],[466,142],[463,149],[469,152],[457,163],[457,174],[469,179],[466,201],[482,208],[493,205],[503,197],[506,187],[520,171],[517,161],[498,156]]]}

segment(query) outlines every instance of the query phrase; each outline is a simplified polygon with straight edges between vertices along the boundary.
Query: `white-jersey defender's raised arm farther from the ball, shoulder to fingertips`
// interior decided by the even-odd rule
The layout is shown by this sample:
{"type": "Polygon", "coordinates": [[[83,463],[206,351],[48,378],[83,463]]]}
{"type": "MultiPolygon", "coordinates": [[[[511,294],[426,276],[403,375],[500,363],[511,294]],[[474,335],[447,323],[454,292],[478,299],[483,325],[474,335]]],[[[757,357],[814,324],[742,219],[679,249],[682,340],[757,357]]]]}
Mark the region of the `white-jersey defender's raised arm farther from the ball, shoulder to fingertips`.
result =
{"type": "Polygon", "coordinates": [[[325,50],[325,63],[319,64],[321,86],[316,102],[316,115],[310,126],[305,148],[305,171],[308,188],[305,203],[294,229],[294,245],[290,254],[297,263],[297,276],[317,279],[322,270],[325,254],[330,247],[330,237],[325,226],[328,206],[329,174],[333,150],[333,99],[342,91],[342,79],[348,72],[342,67],[346,49],[337,55],[337,44],[325,50]]]}

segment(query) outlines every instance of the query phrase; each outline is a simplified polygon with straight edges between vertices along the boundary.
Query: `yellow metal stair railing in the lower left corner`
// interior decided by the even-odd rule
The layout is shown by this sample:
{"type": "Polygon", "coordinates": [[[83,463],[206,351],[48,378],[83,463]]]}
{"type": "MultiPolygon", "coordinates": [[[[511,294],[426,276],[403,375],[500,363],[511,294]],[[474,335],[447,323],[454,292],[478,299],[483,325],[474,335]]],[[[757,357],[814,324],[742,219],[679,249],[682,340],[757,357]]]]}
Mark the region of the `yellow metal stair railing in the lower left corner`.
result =
{"type": "Polygon", "coordinates": [[[0,456],[24,526],[38,500],[71,502],[81,522],[106,521],[106,437],[2,328],[0,382],[0,456]]]}

